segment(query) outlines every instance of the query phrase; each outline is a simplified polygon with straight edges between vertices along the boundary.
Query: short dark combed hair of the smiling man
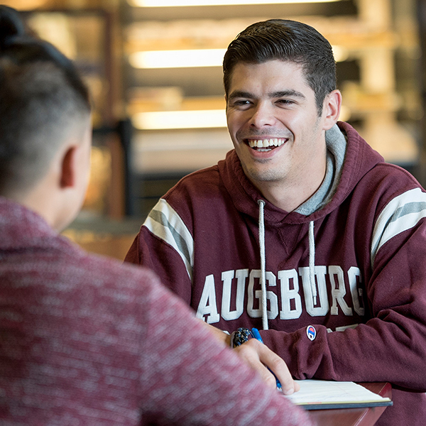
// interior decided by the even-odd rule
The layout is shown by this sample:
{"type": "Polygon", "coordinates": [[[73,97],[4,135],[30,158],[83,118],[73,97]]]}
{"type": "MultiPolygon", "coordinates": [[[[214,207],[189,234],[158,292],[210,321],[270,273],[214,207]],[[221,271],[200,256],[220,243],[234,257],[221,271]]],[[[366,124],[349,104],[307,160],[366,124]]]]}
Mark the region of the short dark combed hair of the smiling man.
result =
{"type": "Polygon", "coordinates": [[[226,95],[237,63],[262,63],[275,59],[302,65],[321,114],[324,97],[336,89],[332,46],[315,28],[297,21],[270,19],[257,22],[236,36],[224,56],[226,95]]]}

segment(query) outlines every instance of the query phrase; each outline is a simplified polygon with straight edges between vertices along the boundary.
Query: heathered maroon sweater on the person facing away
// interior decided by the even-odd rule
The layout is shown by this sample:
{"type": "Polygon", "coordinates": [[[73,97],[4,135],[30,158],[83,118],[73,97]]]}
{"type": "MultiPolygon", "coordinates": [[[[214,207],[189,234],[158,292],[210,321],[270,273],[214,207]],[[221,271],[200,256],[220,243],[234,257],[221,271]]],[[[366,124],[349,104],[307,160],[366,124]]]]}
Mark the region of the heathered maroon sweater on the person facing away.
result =
{"type": "Polygon", "coordinates": [[[2,426],[311,425],[150,271],[0,197],[2,426]]]}

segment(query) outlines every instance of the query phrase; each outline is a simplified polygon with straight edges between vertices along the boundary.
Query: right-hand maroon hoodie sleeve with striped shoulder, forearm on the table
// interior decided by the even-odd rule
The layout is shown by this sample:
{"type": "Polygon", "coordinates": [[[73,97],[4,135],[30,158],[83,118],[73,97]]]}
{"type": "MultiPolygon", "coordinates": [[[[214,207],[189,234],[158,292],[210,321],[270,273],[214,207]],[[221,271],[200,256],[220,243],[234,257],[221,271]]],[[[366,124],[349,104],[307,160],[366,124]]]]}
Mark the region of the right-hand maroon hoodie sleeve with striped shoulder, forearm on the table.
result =
{"type": "Polygon", "coordinates": [[[418,187],[394,197],[377,215],[366,282],[371,319],[365,324],[327,332],[312,318],[312,340],[307,327],[262,332],[296,378],[389,381],[426,391],[425,216],[426,194],[418,187]]]}

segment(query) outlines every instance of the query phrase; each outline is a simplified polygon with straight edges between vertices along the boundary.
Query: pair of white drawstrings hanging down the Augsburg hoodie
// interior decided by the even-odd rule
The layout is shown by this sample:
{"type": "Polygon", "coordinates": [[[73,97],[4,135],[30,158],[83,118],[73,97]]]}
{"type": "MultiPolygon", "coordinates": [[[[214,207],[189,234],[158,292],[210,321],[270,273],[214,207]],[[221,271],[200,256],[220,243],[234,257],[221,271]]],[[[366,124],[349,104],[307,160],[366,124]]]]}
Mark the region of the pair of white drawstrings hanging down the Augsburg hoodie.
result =
{"type": "MultiPolygon", "coordinates": [[[[265,202],[258,200],[259,204],[259,247],[261,251],[261,288],[262,288],[262,327],[267,330],[268,327],[268,309],[266,304],[266,258],[265,258],[265,218],[263,207],[265,202]]],[[[317,305],[317,286],[315,285],[315,234],[314,221],[309,222],[309,281],[314,300],[314,306],[317,305]]]]}

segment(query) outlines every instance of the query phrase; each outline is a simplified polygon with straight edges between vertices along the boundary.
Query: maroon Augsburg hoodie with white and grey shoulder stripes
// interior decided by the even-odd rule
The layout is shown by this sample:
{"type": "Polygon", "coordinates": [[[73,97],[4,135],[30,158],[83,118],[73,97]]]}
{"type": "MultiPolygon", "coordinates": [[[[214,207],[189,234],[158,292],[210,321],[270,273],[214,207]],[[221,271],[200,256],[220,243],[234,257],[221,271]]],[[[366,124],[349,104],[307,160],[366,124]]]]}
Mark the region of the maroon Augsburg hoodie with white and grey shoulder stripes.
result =
{"type": "Polygon", "coordinates": [[[263,341],[295,378],[389,381],[394,405],[377,425],[424,426],[426,194],[349,124],[339,128],[346,154],[324,207],[301,214],[264,200],[259,221],[263,197],[231,151],[158,202],[126,261],[153,268],[228,332],[261,329],[267,310],[263,341]]]}

